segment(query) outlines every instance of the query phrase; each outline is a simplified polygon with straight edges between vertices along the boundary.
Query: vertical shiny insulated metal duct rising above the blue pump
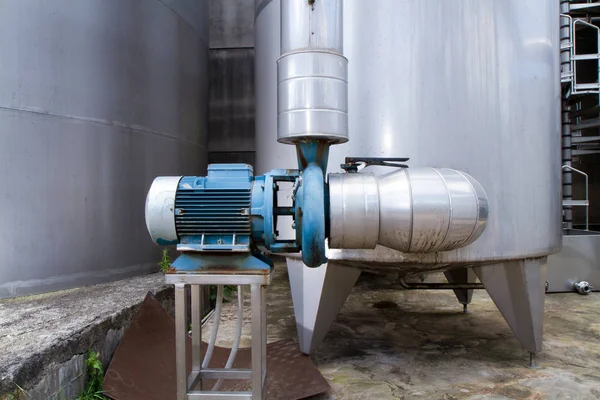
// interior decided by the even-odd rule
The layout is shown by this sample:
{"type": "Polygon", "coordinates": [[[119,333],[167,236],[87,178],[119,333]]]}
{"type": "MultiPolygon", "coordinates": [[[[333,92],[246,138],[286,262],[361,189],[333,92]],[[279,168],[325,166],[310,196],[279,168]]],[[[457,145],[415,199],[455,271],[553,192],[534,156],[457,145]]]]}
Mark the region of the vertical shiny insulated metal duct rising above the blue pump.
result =
{"type": "Polygon", "coordinates": [[[277,138],[348,141],[348,60],[341,0],[284,1],[277,61],[277,138]]]}

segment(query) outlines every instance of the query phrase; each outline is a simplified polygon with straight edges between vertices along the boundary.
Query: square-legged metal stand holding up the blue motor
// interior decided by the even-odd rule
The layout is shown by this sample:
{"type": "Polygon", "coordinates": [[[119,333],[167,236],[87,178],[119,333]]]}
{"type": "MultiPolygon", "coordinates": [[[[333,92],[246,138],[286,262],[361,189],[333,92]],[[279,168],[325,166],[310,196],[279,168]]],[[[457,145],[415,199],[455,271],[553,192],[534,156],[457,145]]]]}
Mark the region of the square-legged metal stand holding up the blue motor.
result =
{"type": "Polygon", "coordinates": [[[194,273],[166,275],[166,283],[175,285],[175,347],[177,363],[177,400],[262,400],[265,399],[267,378],[267,311],[265,286],[271,283],[271,270],[264,273],[210,269],[194,273]],[[202,368],[201,285],[249,285],[252,308],[252,368],[202,368]],[[192,372],[187,375],[186,344],[188,321],[186,292],[191,288],[192,372]],[[251,379],[251,392],[202,390],[203,379],[251,379]],[[200,390],[196,390],[196,387],[200,390]]]}

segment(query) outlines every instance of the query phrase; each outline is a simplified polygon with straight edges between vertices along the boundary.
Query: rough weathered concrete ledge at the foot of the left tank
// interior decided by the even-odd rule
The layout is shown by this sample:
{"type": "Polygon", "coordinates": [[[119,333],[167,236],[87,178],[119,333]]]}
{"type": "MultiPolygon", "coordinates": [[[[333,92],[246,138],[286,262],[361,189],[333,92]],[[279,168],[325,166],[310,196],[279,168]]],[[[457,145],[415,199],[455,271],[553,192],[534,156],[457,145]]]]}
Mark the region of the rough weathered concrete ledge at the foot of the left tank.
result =
{"type": "Polygon", "coordinates": [[[162,273],[0,301],[0,398],[72,399],[85,385],[87,351],[106,368],[148,292],[173,309],[162,273]]]}

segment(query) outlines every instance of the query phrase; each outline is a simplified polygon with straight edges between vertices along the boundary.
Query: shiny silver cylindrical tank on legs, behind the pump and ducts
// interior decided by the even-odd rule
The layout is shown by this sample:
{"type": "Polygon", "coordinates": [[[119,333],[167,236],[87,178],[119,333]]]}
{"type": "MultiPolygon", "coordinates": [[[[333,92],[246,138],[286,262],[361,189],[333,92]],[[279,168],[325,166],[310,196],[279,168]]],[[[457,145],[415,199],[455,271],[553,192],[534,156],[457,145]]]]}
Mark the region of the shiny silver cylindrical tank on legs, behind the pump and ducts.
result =
{"type": "MultiPolygon", "coordinates": [[[[279,1],[256,2],[257,172],[295,165],[277,143],[279,1]]],[[[523,259],[558,251],[558,2],[344,2],[349,136],[346,156],[410,157],[411,167],[464,171],[489,199],[488,225],[467,247],[408,255],[329,250],[328,257],[426,266],[523,259]]]]}

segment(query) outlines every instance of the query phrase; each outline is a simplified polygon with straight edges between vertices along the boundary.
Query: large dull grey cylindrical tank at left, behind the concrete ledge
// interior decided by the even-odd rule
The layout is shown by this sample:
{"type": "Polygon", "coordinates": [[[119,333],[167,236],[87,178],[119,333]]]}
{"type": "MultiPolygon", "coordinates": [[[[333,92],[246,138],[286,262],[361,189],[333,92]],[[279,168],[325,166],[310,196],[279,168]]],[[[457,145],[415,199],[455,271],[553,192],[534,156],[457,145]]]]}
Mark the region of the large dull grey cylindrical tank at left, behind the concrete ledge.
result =
{"type": "Polygon", "coordinates": [[[0,297],[156,271],[148,188],[206,168],[206,2],[0,8],[0,297]]]}

